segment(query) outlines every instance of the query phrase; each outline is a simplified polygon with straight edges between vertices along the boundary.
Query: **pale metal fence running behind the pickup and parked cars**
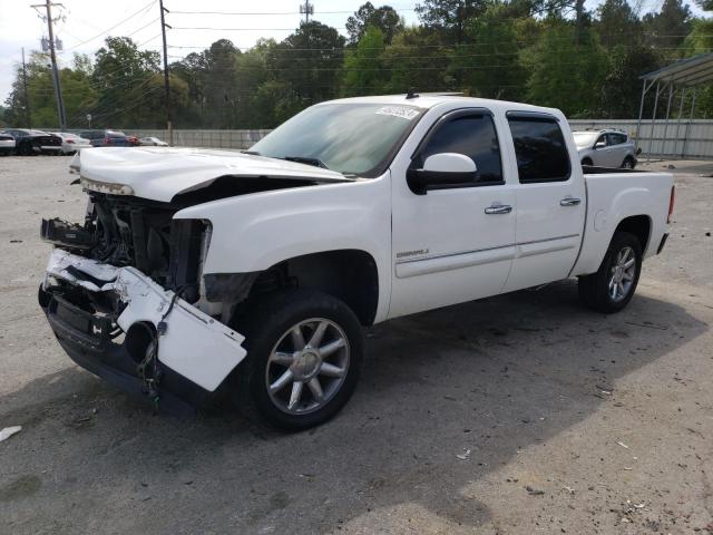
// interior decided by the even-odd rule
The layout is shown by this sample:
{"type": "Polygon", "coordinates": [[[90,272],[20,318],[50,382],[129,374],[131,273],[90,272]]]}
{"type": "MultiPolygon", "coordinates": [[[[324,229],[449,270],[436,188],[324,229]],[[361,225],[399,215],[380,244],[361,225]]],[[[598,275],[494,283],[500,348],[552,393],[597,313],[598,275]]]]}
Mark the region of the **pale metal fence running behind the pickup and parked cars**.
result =
{"type": "MultiPolygon", "coordinates": [[[[573,130],[618,128],[637,139],[644,157],[713,158],[713,120],[643,120],[641,133],[636,119],[573,119],[573,130]]],[[[174,130],[177,147],[250,148],[270,130],[174,130]]],[[[167,130],[126,130],[138,137],[168,139],[167,130]]]]}

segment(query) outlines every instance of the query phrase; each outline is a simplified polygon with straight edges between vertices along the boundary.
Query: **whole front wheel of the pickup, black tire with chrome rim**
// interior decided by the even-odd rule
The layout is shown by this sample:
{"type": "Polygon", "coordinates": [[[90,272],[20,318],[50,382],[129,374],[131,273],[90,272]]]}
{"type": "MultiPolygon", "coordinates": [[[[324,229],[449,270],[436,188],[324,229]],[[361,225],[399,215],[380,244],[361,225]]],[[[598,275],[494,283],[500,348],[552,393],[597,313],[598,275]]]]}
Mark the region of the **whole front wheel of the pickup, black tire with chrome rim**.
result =
{"type": "Polygon", "coordinates": [[[247,357],[234,374],[246,416],[299,431],[325,422],[346,403],[359,379],[363,341],[356,315],[322,292],[290,290],[236,317],[247,357]]]}

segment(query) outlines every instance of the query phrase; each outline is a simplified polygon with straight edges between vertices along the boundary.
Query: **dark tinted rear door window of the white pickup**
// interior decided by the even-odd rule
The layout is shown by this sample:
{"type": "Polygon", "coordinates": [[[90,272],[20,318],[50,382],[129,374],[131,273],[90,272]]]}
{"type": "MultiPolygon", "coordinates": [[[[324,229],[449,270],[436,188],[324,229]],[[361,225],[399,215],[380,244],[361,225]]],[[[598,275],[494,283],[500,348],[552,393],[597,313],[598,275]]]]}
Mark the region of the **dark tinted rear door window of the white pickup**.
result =
{"type": "Polygon", "coordinates": [[[521,184],[565,182],[569,178],[569,154],[557,120],[511,116],[508,123],[521,184]]]}

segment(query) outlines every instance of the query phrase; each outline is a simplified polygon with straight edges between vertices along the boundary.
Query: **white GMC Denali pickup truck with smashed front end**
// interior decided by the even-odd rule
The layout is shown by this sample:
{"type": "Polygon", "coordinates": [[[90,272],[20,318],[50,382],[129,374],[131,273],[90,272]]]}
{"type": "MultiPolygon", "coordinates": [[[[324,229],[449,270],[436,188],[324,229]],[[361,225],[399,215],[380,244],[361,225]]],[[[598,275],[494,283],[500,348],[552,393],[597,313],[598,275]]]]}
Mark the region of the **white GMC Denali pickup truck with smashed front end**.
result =
{"type": "Polygon", "coordinates": [[[438,95],[323,103],[250,152],[100,148],[39,301],[80,366],[186,409],[216,395],[304,429],[352,395],[362,325],[560,279],[632,299],[671,175],[583,175],[556,109],[438,95]]]}

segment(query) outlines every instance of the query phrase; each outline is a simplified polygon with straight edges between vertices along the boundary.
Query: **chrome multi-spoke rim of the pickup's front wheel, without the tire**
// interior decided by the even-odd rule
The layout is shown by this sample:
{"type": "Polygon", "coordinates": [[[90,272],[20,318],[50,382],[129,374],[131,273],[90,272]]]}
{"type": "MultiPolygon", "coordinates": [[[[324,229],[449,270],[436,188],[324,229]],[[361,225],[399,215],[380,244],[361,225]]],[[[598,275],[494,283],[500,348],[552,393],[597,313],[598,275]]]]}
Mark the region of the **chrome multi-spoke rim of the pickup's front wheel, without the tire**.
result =
{"type": "Polygon", "coordinates": [[[349,363],[349,340],[336,323],[324,318],[301,321],[282,335],[267,359],[270,399],[290,415],[313,412],[336,395],[349,363]]]}

